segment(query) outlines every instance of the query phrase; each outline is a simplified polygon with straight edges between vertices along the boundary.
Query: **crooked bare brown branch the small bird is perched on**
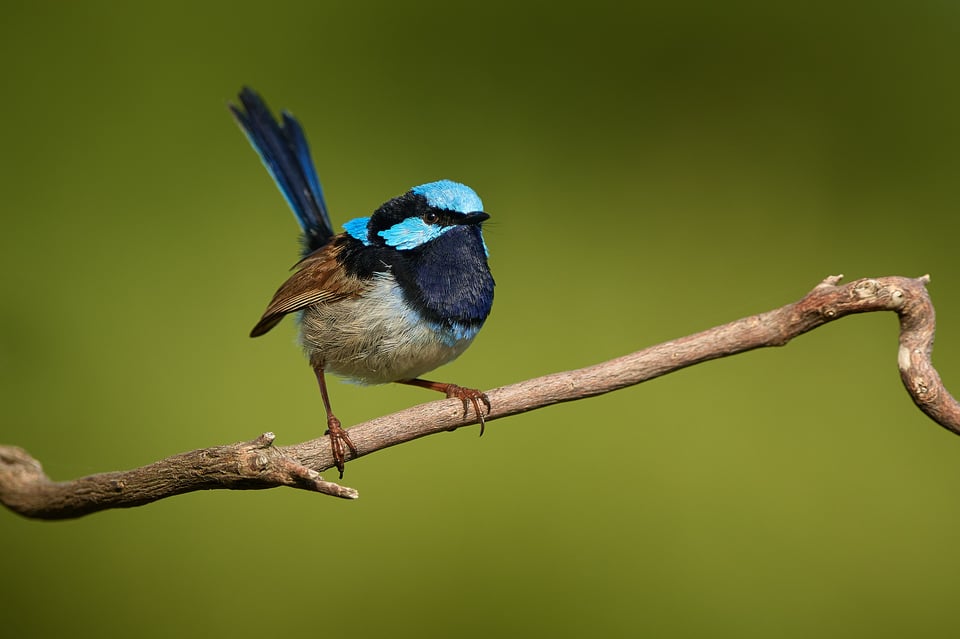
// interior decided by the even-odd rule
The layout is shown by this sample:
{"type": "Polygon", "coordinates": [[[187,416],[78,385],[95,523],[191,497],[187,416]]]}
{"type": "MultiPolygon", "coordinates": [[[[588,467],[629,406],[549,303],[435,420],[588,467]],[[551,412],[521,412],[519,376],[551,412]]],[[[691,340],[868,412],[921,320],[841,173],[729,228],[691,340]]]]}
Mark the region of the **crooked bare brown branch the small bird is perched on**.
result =
{"type": "MultiPolygon", "coordinates": [[[[934,309],[929,277],[880,277],[839,285],[828,277],[803,299],[767,313],[665,342],[617,359],[530,379],[489,391],[487,421],[608,393],[700,362],[765,346],[782,346],[822,324],[853,313],[894,311],[900,317],[897,361],[907,392],[935,422],[960,434],[960,405],[930,361],[934,309]]],[[[459,400],[421,404],[350,429],[357,455],[476,423],[459,400]]],[[[129,471],[53,482],[24,450],[0,446],[0,502],[27,517],[65,519],[108,508],[128,508],[196,490],[252,490],[291,486],[343,498],[352,488],[324,481],[333,466],[326,437],[273,446],[273,433],[251,442],[182,453],[129,471]]]]}

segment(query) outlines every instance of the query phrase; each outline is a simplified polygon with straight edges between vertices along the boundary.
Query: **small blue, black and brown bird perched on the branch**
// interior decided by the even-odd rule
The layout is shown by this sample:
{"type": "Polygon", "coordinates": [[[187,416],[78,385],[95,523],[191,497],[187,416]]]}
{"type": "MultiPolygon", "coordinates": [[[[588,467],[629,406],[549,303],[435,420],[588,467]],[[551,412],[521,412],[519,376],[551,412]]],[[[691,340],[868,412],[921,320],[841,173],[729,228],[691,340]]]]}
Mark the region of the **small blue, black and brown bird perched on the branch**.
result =
{"type": "Polygon", "coordinates": [[[448,179],[415,186],[351,219],[334,233],[323,189],[299,121],[279,119],[244,87],[229,109],[299,222],[301,259],[250,332],[261,336],[284,316],[320,386],[334,464],[343,478],[357,448],[335,416],[326,375],[361,384],[399,382],[472,406],[485,426],[487,395],[421,376],[459,357],[493,305],[494,279],[482,224],[489,219],[470,187],[448,179]],[[482,404],[482,407],[481,407],[482,404]]]}

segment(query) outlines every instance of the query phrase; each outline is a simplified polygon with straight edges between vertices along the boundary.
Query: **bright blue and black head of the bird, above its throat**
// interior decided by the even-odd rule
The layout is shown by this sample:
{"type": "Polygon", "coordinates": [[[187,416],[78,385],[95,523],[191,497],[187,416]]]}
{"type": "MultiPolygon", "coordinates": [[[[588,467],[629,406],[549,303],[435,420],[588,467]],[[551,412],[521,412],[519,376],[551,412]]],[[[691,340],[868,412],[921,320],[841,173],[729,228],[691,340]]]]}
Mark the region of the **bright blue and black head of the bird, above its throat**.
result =
{"type": "Polygon", "coordinates": [[[370,217],[350,220],[343,228],[365,246],[409,251],[457,228],[474,227],[479,235],[480,224],[489,217],[473,189],[440,180],[415,186],[383,204],[370,217]]]}

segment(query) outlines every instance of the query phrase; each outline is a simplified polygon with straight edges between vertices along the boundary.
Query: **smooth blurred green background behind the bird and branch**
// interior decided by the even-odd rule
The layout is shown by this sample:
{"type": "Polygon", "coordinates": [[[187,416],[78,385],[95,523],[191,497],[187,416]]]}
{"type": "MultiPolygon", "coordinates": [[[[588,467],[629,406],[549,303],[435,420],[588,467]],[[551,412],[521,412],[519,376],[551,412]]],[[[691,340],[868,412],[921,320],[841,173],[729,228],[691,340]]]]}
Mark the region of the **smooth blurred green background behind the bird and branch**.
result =
{"type": "MultiPolygon", "coordinates": [[[[0,441],[54,478],[317,436],[296,225],[226,103],[304,123],[334,221],[473,186],[494,311],[434,377],[490,388],[931,273],[960,388],[960,6],[7,3],[0,441]]],[[[350,463],[342,502],[217,491],[0,512],[4,634],[942,636],[960,439],[896,318],[350,463]]],[[[332,390],[344,423],[434,399],[332,390]]],[[[331,475],[332,476],[332,475],[331,475]]]]}

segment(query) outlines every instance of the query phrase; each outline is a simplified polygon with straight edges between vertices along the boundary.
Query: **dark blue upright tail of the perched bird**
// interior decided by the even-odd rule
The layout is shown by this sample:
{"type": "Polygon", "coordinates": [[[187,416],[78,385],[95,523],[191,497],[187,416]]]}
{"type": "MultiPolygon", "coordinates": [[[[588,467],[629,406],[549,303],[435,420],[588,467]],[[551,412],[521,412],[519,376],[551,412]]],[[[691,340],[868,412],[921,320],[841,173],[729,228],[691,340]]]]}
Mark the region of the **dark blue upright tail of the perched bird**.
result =
{"type": "Polygon", "coordinates": [[[247,87],[239,98],[242,108],[231,104],[230,111],[297,216],[304,254],[315,251],[333,237],[333,225],[303,129],[286,111],[277,122],[263,98],[247,87]]]}

